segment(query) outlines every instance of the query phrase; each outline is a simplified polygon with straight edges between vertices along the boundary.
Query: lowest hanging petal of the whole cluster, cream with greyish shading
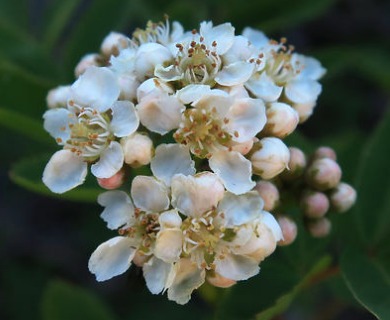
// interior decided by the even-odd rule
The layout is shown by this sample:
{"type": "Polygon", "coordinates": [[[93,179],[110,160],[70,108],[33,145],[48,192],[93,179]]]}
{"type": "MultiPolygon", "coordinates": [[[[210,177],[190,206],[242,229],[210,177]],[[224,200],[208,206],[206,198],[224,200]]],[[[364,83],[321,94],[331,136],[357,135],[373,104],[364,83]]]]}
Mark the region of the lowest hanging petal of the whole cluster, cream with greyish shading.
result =
{"type": "Polygon", "coordinates": [[[186,304],[192,291],[205,280],[205,270],[199,269],[190,259],[180,259],[171,270],[168,278],[168,299],[178,304],[186,304]]]}

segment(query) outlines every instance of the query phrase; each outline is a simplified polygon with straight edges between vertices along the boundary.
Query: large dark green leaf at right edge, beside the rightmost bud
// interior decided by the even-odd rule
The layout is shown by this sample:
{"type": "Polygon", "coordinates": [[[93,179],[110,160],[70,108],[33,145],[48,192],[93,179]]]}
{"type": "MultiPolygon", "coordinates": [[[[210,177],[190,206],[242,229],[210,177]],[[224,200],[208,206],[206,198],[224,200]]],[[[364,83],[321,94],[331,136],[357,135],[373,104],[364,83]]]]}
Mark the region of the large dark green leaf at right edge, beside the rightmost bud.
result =
{"type": "Polygon", "coordinates": [[[364,149],[356,187],[358,199],[353,216],[362,240],[375,247],[390,227],[390,112],[364,149]]]}

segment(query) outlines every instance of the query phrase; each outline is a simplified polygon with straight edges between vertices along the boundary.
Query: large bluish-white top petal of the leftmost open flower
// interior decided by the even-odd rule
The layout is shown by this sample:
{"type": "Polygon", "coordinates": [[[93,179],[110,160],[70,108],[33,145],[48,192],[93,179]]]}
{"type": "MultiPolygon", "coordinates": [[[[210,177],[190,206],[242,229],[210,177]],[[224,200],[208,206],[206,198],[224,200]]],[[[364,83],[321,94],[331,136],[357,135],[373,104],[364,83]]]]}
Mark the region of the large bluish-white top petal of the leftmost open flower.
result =
{"type": "Polygon", "coordinates": [[[120,87],[115,74],[106,67],[89,67],[72,85],[70,99],[99,112],[107,111],[118,99],[120,87]]]}

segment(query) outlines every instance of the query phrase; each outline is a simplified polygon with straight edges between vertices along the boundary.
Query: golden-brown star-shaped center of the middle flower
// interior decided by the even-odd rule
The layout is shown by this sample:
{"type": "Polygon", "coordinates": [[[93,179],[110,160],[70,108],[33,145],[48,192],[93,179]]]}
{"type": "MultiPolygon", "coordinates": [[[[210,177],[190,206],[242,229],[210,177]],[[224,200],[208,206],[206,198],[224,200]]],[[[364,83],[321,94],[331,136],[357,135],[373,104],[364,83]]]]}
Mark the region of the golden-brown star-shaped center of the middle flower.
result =
{"type": "Polygon", "coordinates": [[[173,137],[178,143],[188,145],[191,152],[200,158],[209,158],[211,153],[228,146],[231,135],[224,130],[228,119],[220,120],[212,108],[190,108],[184,111],[182,122],[173,137]]]}

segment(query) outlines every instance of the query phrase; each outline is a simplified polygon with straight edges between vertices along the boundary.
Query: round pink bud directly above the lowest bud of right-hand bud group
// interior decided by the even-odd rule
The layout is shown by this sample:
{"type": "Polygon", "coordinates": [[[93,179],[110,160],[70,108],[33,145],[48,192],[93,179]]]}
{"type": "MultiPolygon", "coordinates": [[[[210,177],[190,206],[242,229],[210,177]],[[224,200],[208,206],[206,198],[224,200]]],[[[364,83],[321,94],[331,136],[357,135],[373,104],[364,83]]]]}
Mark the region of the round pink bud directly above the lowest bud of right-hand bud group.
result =
{"type": "Polygon", "coordinates": [[[309,191],[303,195],[301,207],[306,217],[321,218],[329,210],[329,199],[322,192],[309,191]]]}

